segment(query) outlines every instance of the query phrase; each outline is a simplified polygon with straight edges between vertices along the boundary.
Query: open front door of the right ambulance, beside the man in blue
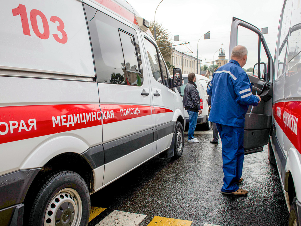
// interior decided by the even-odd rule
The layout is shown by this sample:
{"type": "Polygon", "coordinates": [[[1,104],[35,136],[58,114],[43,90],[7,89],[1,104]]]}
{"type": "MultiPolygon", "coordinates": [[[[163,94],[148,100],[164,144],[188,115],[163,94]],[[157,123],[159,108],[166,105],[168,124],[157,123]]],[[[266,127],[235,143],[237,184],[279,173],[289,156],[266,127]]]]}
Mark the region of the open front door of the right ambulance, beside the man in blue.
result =
{"type": "Polygon", "coordinates": [[[244,149],[245,154],[250,154],[263,151],[262,147],[268,143],[272,128],[273,59],[261,31],[252,24],[233,17],[229,59],[233,47],[237,45],[248,49],[245,67],[253,72],[248,75],[251,83],[254,83],[252,93],[256,95],[257,92],[261,97],[259,105],[253,109],[250,106],[246,114],[244,149]]]}

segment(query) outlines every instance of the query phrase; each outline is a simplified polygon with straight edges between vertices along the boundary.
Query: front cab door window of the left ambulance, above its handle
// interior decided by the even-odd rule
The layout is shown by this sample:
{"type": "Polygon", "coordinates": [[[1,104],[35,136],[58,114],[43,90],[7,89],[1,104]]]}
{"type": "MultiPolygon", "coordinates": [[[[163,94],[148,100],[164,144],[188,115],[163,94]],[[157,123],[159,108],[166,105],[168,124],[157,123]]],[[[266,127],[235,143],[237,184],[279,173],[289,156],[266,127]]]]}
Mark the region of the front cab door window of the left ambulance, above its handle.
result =
{"type": "Polygon", "coordinates": [[[144,40],[145,40],[145,49],[147,51],[148,61],[149,61],[149,64],[151,65],[151,71],[152,71],[153,77],[160,83],[163,83],[162,77],[161,77],[162,73],[161,73],[157,48],[156,48],[156,46],[154,46],[153,43],[151,43],[147,39],[144,39],[144,40]]]}

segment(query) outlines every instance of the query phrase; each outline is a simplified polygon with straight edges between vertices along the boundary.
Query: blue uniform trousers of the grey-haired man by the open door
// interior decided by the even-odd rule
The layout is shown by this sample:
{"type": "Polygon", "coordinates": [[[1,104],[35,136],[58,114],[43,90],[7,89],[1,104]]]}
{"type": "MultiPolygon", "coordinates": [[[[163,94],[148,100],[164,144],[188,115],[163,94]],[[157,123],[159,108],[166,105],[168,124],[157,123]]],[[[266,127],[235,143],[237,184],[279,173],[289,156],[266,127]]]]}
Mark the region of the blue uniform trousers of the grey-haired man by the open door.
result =
{"type": "Polygon", "coordinates": [[[224,184],[222,192],[238,190],[244,164],[244,128],[225,126],[216,123],[222,140],[224,184]]]}

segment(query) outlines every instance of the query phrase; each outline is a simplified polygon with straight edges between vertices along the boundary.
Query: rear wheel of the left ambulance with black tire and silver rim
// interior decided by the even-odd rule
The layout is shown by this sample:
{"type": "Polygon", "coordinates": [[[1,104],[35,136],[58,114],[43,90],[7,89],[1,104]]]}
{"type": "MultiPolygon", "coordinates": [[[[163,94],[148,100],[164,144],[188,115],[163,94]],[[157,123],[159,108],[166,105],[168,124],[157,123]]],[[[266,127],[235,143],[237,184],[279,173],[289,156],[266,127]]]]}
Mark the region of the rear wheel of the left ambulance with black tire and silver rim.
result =
{"type": "Polygon", "coordinates": [[[74,226],[88,225],[90,194],[85,180],[79,174],[57,171],[38,186],[40,190],[36,198],[33,197],[29,226],[60,226],[74,222],[74,226]]]}

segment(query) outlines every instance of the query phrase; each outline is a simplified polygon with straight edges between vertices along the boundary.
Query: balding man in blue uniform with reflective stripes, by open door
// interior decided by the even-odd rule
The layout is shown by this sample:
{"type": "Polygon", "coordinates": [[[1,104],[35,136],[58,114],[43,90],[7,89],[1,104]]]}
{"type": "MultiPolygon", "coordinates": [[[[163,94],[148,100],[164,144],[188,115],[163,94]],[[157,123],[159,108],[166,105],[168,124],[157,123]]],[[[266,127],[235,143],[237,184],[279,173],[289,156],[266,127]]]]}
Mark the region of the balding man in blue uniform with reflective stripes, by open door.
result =
{"type": "Polygon", "coordinates": [[[209,121],[215,122],[222,140],[224,184],[222,193],[246,195],[237,183],[244,163],[244,121],[249,105],[256,106],[261,101],[252,94],[252,85],[242,69],[247,62],[248,51],[244,46],[235,46],[229,63],[219,67],[207,88],[211,95],[209,121]]]}

